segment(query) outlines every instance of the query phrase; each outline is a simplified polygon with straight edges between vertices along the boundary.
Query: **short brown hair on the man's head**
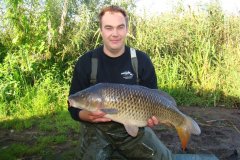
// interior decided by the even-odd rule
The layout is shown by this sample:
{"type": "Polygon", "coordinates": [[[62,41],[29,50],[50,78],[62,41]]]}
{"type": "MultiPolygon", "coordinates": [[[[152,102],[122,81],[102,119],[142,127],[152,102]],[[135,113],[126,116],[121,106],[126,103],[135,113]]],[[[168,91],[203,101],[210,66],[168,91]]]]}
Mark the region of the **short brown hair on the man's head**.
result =
{"type": "Polygon", "coordinates": [[[102,17],[106,12],[111,12],[111,13],[120,12],[124,16],[125,21],[126,21],[126,25],[128,26],[128,16],[127,16],[126,11],[119,6],[111,5],[111,6],[108,6],[108,7],[104,7],[101,10],[101,12],[99,13],[98,19],[99,19],[100,27],[102,27],[102,17]]]}

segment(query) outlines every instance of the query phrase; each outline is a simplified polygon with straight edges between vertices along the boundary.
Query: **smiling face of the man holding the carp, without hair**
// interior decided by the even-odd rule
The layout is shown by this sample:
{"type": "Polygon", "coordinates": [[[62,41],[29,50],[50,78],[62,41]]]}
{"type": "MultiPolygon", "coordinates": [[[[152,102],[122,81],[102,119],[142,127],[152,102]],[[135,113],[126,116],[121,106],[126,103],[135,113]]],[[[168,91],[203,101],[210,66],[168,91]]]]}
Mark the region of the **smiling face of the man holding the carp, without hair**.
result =
{"type": "Polygon", "coordinates": [[[128,28],[120,12],[106,12],[102,17],[101,35],[104,47],[110,52],[121,51],[125,46],[128,28]]]}

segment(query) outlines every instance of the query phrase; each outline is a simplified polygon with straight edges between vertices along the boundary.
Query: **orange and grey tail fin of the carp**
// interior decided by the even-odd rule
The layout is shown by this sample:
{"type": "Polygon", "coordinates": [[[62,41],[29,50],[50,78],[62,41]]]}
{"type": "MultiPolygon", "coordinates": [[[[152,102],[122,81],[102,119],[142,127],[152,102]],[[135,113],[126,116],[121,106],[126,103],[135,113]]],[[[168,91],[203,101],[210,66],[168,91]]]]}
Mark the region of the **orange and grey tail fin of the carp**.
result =
{"type": "Polygon", "coordinates": [[[201,130],[198,124],[190,117],[185,117],[185,123],[176,127],[179,139],[182,143],[182,149],[185,151],[191,134],[199,135],[201,130]]]}

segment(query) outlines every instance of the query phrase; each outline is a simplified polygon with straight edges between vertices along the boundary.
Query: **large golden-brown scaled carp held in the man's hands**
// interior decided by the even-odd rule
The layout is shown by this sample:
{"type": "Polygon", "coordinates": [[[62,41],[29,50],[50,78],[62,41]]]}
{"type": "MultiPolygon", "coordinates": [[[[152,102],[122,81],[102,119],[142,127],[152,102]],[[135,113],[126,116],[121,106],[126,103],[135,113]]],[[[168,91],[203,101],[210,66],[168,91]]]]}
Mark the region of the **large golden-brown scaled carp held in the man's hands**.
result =
{"type": "Polygon", "coordinates": [[[175,100],[167,93],[139,85],[99,83],[69,96],[72,107],[88,111],[101,110],[105,117],[122,123],[131,136],[138,127],[147,125],[155,116],[159,122],[171,124],[178,132],[185,150],[191,134],[199,135],[198,124],[178,110],[175,100]]]}

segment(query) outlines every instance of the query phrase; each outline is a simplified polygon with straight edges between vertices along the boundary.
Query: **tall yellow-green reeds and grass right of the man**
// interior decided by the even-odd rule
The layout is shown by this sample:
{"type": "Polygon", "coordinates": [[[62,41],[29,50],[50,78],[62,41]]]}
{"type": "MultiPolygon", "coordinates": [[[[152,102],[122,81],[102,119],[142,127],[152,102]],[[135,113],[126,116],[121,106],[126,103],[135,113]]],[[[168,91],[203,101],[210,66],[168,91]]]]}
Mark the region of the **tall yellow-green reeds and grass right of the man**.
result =
{"type": "Polygon", "coordinates": [[[218,4],[207,12],[177,10],[139,18],[128,43],[149,54],[159,88],[178,104],[238,107],[239,22],[237,16],[224,15],[218,4]]]}

